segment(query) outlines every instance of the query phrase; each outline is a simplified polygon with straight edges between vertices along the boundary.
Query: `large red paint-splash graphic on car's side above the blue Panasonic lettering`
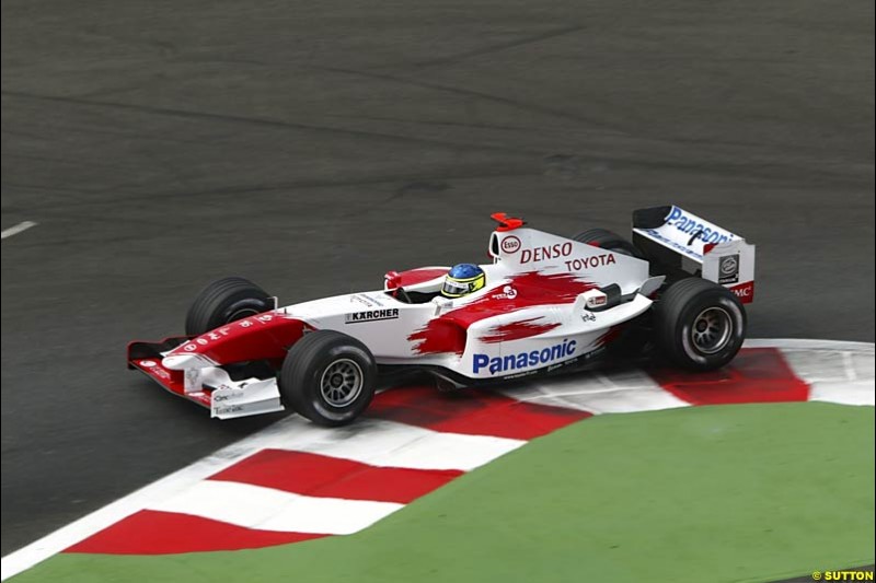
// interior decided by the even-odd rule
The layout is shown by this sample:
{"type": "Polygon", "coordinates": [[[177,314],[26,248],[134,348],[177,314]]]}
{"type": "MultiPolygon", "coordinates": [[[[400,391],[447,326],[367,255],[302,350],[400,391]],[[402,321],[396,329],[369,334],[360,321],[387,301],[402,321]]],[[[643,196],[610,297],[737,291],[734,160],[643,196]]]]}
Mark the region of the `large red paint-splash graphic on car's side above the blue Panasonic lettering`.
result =
{"type": "Polygon", "coordinates": [[[466,330],[475,322],[527,307],[572,303],[578,294],[595,288],[575,273],[518,273],[483,298],[429,320],[407,339],[414,342],[413,350],[419,354],[462,354],[466,330]],[[504,291],[506,288],[514,289],[514,296],[509,298],[504,291]]]}

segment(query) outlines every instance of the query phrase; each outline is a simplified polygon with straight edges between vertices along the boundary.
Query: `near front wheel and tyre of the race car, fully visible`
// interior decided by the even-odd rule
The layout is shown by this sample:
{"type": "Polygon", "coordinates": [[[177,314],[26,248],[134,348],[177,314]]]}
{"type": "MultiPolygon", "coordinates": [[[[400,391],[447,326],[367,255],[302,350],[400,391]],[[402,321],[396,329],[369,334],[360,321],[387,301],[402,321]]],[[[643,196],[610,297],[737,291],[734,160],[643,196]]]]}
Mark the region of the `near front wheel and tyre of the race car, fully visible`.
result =
{"type": "Polygon", "coordinates": [[[284,401],[325,427],[359,417],[374,396],[377,363],[359,340],[335,330],[316,330],[298,340],[283,361],[284,401]]]}

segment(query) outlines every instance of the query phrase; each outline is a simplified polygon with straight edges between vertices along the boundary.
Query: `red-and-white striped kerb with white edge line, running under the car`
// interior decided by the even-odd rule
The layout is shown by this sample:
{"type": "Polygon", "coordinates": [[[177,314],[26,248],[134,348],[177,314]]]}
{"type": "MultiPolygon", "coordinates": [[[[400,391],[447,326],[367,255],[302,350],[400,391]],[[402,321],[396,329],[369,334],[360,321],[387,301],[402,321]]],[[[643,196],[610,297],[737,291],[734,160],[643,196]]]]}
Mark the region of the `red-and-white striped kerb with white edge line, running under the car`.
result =
{"type": "Polygon", "coordinates": [[[2,579],[61,551],[231,550],[355,533],[596,413],[807,399],[873,406],[874,345],[753,340],[730,366],[705,374],[655,369],[500,392],[389,390],[347,428],[278,421],[4,557],[2,579]]]}

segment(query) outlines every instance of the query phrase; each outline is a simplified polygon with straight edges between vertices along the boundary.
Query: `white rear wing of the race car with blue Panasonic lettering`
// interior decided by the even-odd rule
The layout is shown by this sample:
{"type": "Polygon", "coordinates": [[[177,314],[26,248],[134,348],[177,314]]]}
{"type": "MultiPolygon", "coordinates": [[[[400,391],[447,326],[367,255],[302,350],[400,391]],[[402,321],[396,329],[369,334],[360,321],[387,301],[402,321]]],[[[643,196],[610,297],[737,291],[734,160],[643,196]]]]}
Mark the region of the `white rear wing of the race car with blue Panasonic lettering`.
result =
{"type": "Polygon", "coordinates": [[[754,245],[679,207],[633,211],[633,243],[676,277],[724,285],[744,304],[754,300],[754,245]]]}

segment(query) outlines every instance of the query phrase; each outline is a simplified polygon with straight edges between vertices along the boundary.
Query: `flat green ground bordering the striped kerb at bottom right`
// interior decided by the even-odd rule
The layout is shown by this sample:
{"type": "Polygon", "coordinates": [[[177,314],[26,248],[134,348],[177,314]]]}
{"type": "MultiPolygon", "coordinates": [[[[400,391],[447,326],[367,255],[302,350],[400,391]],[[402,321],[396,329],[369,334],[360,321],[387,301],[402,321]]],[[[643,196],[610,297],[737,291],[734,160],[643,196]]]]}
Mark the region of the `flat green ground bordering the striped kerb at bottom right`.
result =
{"type": "Polygon", "coordinates": [[[874,409],[589,419],[361,533],[160,557],[64,555],[30,581],[765,581],[874,560],[874,409]]]}

